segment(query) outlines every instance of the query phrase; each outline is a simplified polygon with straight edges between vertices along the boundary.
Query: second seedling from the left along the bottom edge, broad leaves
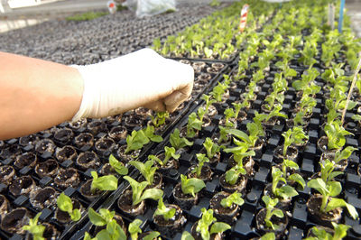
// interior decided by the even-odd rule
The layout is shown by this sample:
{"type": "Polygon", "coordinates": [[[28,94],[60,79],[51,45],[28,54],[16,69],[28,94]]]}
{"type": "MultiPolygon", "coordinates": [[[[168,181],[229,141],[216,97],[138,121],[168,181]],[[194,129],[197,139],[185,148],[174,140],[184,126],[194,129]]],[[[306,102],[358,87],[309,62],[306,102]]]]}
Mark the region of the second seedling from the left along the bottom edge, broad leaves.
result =
{"type": "Polygon", "coordinates": [[[97,213],[93,208],[88,209],[88,217],[90,222],[95,226],[106,226],[105,229],[100,230],[97,233],[95,238],[91,238],[88,232],[84,235],[84,240],[92,239],[126,239],[125,232],[122,227],[119,226],[114,219],[116,211],[109,211],[105,208],[100,208],[99,213],[97,213]]]}

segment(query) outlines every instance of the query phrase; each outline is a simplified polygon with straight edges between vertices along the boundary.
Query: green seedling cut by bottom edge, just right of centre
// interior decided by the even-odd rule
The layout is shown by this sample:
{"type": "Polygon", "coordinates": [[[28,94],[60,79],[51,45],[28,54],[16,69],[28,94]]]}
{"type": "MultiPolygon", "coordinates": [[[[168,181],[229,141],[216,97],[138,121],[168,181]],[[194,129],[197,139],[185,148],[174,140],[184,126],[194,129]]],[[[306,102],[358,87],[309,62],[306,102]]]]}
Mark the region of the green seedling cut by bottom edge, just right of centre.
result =
{"type": "Polygon", "coordinates": [[[231,226],[226,223],[217,222],[217,218],[213,217],[213,210],[202,208],[202,218],[198,221],[196,231],[200,233],[202,239],[209,240],[210,235],[219,234],[227,231],[231,226]]]}

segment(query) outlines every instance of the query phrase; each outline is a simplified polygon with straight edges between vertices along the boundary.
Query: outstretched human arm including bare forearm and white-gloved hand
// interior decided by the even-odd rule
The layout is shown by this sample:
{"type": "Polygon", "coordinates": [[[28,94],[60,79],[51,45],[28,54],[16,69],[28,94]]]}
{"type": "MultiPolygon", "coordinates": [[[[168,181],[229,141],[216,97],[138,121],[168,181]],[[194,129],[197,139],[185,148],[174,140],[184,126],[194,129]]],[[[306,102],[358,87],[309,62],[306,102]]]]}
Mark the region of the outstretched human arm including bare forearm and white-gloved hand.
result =
{"type": "Polygon", "coordinates": [[[190,96],[194,74],[152,50],[79,70],[0,52],[0,66],[0,139],[139,106],[171,112],[190,96]]]}

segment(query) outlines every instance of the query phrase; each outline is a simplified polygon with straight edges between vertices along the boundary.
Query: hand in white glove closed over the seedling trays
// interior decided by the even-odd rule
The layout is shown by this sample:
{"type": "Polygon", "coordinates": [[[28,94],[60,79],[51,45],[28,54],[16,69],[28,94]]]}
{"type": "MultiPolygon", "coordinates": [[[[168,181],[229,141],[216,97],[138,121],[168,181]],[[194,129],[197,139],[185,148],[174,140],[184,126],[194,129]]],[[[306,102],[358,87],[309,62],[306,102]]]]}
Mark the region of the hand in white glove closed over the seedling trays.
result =
{"type": "Polygon", "coordinates": [[[139,106],[173,112],[193,88],[194,71],[189,65],[164,59],[151,49],[71,67],[84,79],[83,98],[73,122],[117,115],[139,106]]]}

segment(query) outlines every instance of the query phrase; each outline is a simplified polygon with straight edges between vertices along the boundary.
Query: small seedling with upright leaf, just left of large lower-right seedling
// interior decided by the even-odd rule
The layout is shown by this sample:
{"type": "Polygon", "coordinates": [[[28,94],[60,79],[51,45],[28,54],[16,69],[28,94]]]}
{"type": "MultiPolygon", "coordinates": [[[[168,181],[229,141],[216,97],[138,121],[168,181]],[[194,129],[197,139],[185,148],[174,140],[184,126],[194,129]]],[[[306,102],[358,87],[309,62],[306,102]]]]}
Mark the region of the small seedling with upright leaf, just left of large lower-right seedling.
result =
{"type": "Polygon", "coordinates": [[[272,192],[277,198],[292,198],[299,195],[298,192],[291,186],[287,185],[287,180],[284,178],[282,171],[279,168],[272,168],[272,192]],[[282,181],[284,185],[279,188],[279,182],[282,181]]]}

